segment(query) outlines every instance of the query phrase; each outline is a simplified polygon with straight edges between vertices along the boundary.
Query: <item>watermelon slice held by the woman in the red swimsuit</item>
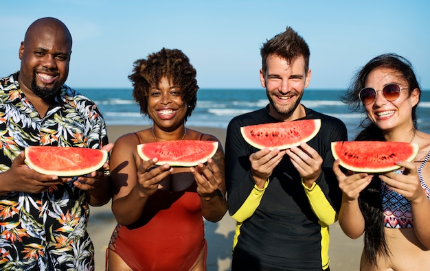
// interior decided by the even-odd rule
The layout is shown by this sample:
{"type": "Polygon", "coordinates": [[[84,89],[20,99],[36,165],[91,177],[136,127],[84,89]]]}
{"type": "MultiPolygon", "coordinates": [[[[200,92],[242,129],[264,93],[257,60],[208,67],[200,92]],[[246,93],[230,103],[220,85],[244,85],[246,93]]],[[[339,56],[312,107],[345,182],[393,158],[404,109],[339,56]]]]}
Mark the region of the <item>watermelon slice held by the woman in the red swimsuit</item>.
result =
{"type": "Polygon", "coordinates": [[[206,163],[218,150],[218,142],[201,140],[174,140],[137,145],[142,160],[158,158],[156,165],[169,164],[178,167],[194,167],[206,163]]]}

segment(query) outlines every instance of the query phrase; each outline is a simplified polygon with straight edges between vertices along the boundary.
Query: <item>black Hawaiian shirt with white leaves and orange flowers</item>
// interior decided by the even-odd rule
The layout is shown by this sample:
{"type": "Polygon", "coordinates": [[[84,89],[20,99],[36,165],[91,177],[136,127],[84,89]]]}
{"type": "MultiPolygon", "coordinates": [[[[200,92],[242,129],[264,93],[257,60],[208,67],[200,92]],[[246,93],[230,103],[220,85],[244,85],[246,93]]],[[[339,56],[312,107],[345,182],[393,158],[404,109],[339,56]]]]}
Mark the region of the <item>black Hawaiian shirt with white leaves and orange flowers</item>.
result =
{"type": "MultiPolygon", "coordinates": [[[[101,148],[108,143],[97,106],[63,85],[41,118],[16,72],[0,78],[0,172],[29,145],[101,148]]],[[[42,193],[0,196],[0,270],[94,270],[89,204],[73,182],[42,193]]]]}

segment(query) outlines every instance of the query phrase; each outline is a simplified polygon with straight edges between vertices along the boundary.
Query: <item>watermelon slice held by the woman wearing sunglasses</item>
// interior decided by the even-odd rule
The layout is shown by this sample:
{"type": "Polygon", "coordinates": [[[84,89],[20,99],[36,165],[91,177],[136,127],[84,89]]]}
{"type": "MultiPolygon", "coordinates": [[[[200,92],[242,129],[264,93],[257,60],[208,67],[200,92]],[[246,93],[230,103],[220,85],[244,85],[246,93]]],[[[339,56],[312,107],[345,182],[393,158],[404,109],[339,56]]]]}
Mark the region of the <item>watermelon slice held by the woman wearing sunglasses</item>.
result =
{"type": "Polygon", "coordinates": [[[393,141],[332,142],[332,154],[353,172],[381,173],[400,168],[398,161],[414,161],[418,144],[393,141]]]}

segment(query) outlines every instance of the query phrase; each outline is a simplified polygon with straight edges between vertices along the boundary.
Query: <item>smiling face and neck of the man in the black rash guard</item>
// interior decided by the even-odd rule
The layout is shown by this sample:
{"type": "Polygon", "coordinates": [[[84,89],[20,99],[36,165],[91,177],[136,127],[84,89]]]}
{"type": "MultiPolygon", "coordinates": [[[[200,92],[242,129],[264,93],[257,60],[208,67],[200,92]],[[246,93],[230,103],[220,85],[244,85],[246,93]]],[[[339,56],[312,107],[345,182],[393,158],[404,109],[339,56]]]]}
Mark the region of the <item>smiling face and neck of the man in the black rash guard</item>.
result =
{"type": "Polygon", "coordinates": [[[270,102],[269,114],[283,121],[304,117],[299,104],[309,84],[311,71],[305,72],[303,56],[288,62],[271,55],[266,61],[266,71],[260,70],[260,82],[266,88],[270,102]]]}

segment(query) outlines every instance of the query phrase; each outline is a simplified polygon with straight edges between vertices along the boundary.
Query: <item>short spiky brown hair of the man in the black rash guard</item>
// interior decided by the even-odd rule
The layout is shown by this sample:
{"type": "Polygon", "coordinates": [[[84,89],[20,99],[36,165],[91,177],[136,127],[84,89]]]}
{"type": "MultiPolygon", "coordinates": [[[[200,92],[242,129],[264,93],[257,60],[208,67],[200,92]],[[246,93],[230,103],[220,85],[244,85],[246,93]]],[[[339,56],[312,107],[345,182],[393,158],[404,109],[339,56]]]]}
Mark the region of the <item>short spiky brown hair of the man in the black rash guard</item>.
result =
{"type": "Polygon", "coordinates": [[[260,48],[260,54],[262,57],[262,70],[265,72],[267,69],[266,60],[270,55],[279,56],[284,58],[288,62],[292,62],[299,56],[304,57],[304,71],[308,72],[309,69],[309,57],[310,50],[309,46],[297,32],[291,27],[286,27],[286,30],[270,40],[260,48]]]}

